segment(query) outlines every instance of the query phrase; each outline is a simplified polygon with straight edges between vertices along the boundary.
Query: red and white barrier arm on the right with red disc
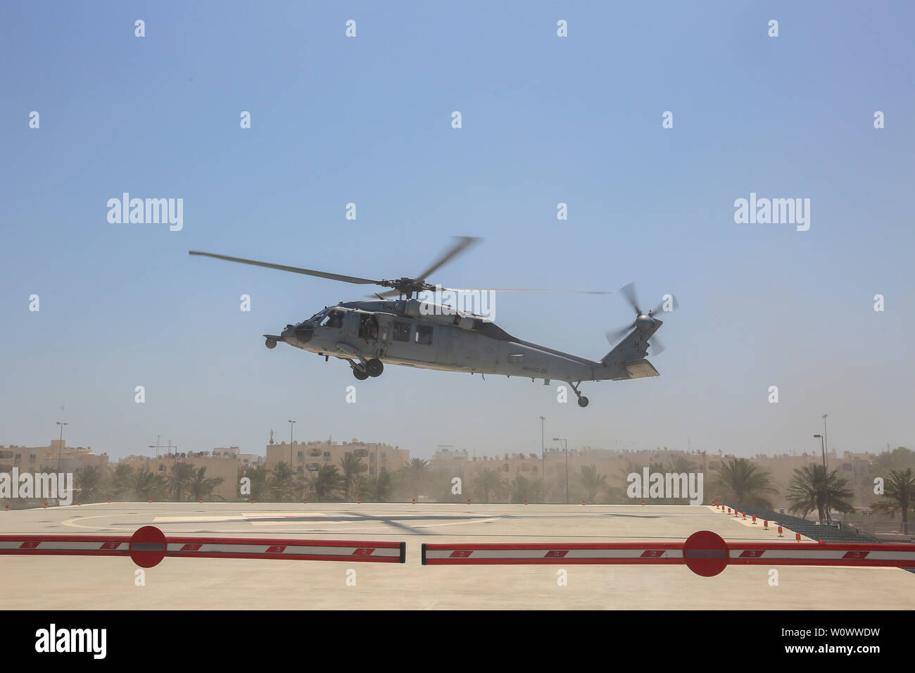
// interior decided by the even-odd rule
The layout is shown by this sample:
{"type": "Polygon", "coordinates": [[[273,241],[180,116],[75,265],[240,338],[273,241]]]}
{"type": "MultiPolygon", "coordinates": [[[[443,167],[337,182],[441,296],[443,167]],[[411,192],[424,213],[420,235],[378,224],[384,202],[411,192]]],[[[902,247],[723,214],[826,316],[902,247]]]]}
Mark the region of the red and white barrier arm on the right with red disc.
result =
{"type": "Polygon", "coordinates": [[[915,568],[915,545],[731,543],[699,531],[684,542],[424,544],[423,565],[686,565],[713,577],[728,565],[915,568]]]}

